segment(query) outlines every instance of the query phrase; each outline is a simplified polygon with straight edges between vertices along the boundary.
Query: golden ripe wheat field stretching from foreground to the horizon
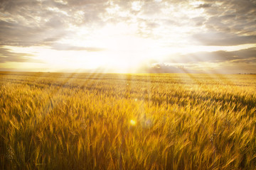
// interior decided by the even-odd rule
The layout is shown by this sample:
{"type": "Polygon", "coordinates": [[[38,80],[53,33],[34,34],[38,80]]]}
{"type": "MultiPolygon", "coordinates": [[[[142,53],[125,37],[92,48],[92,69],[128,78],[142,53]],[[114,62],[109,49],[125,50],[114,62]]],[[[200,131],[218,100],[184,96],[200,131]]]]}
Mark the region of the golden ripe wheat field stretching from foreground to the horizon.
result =
{"type": "Polygon", "coordinates": [[[0,72],[0,169],[256,169],[256,76],[0,72]]]}

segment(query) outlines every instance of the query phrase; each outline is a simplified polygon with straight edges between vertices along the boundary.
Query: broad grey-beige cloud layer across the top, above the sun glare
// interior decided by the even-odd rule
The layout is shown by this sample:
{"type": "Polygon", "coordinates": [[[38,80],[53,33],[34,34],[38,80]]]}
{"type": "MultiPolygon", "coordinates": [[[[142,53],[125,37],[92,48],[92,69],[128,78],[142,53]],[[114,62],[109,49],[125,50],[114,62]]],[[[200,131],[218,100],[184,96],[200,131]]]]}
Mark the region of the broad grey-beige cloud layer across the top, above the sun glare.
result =
{"type": "Polygon", "coordinates": [[[137,25],[137,36],[142,38],[171,38],[178,30],[177,36],[187,34],[203,45],[255,43],[255,6],[255,1],[245,0],[205,0],[196,6],[188,0],[2,0],[0,40],[1,45],[51,45],[76,36],[74,27],[93,31],[122,22],[137,25]],[[209,38],[211,34],[217,36],[209,38]]]}

